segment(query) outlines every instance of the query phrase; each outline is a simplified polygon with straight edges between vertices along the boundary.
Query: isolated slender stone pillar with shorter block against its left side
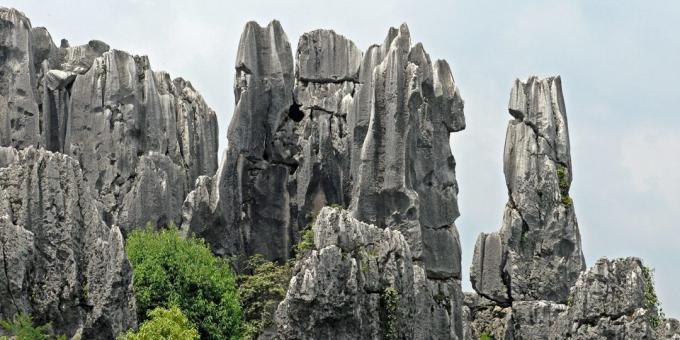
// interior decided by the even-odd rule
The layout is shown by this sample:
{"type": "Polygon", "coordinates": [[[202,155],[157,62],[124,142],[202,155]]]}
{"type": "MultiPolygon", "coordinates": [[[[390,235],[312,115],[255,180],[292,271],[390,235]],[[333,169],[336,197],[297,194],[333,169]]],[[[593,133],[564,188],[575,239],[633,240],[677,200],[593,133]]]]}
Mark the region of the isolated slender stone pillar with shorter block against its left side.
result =
{"type": "Polygon", "coordinates": [[[501,304],[564,303],[585,269],[569,197],[572,170],[567,116],[559,77],[515,81],[503,155],[509,199],[503,226],[480,235],[471,280],[501,304]]]}

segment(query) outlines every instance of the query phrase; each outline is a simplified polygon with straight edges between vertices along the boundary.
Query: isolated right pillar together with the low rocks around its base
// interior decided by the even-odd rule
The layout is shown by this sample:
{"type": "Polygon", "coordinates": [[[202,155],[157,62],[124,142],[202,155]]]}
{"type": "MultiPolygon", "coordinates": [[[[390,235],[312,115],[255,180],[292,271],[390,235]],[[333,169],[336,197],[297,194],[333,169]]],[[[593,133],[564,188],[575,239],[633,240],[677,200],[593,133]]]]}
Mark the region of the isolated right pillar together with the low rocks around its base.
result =
{"type": "Polygon", "coordinates": [[[481,234],[466,294],[465,338],[670,338],[649,269],[636,258],[585,270],[569,197],[571,159],[559,77],[516,81],[505,141],[509,200],[498,233],[481,234]],[[585,271],[584,271],[585,270],[585,271]],[[660,326],[661,325],[661,326],[660,326]]]}

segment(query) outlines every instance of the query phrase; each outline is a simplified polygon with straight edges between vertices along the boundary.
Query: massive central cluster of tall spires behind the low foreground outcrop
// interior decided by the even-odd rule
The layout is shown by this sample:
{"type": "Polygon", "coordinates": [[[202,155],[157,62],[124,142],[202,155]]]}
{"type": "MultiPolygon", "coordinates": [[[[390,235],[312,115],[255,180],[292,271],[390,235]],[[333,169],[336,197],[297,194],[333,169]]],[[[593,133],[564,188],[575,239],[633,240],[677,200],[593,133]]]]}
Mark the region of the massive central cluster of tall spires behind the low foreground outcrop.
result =
{"type": "MultiPolygon", "coordinates": [[[[278,22],[246,25],[229,149],[217,174],[189,194],[183,229],[218,254],[286,260],[322,207],[349,208],[359,221],[399,231],[409,245],[418,311],[412,336],[460,338],[449,135],[465,128],[465,118],[450,67],[411,46],[406,25],[363,55],[342,35],[312,31],[295,56],[278,22]]],[[[287,326],[286,334],[321,336],[287,326]]]]}

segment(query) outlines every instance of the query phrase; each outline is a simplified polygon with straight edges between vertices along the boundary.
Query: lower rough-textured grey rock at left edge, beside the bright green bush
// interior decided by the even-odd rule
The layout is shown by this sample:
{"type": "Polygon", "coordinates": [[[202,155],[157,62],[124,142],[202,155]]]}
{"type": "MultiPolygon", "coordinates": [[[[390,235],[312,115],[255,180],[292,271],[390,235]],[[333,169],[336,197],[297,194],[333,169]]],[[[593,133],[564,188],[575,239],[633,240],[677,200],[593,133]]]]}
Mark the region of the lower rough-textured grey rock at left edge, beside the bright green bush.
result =
{"type": "Polygon", "coordinates": [[[78,162],[32,147],[0,154],[0,318],[28,312],[86,339],[136,326],[123,236],[101,219],[78,162]]]}

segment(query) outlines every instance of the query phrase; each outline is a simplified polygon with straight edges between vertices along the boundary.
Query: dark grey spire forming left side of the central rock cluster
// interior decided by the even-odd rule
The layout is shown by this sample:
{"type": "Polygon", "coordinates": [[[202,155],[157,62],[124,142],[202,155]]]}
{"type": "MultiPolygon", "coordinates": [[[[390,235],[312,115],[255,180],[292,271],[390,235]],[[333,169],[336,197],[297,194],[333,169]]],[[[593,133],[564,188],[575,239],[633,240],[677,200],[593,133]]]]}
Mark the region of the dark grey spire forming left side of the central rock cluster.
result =
{"type": "Polygon", "coordinates": [[[241,35],[234,77],[236,107],[228,149],[213,179],[185,202],[183,228],[221,255],[261,253],[287,259],[293,244],[289,174],[289,109],[293,56],[281,24],[249,22],[241,35]],[[205,226],[211,226],[208,229],[205,226]]]}

